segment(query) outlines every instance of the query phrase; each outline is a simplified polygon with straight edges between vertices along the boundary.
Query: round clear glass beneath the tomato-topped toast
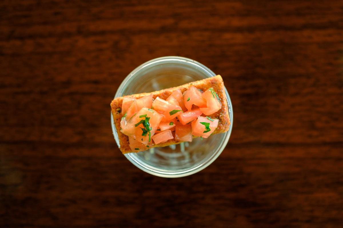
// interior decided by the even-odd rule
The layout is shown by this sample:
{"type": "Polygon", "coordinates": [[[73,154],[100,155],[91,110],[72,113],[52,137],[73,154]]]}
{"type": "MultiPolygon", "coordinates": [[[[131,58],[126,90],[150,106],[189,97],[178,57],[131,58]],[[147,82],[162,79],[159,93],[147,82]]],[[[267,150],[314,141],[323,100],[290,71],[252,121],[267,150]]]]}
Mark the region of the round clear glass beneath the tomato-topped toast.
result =
{"type": "MultiPolygon", "coordinates": [[[[134,69],[120,84],[115,97],[153,92],[215,76],[209,68],[184,57],[166,56],[152,59],[134,69]]],[[[144,172],[161,177],[188,176],[210,165],[225,148],[233,123],[232,104],[225,89],[230,116],[230,129],[209,138],[194,138],[167,147],[155,147],[138,153],[127,153],[126,158],[144,172]]],[[[119,139],[111,115],[111,125],[118,147],[119,139]]]]}

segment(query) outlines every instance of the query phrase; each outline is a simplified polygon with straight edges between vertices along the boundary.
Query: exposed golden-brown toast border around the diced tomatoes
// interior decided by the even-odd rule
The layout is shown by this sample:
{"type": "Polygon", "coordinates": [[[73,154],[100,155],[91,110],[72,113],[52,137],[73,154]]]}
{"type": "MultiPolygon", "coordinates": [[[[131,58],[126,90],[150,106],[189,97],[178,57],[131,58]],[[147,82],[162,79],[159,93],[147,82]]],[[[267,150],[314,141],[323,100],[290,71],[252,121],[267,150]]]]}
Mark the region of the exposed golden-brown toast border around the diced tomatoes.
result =
{"type": "MultiPolygon", "coordinates": [[[[220,75],[217,75],[211,78],[206,78],[200,81],[187,83],[187,84],[169,88],[169,89],[164,89],[164,90],[155,91],[151,93],[133,94],[133,95],[128,95],[127,97],[134,97],[138,99],[138,98],[152,94],[154,99],[156,99],[156,97],[167,99],[168,96],[171,93],[173,93],[175,90],[180,89],[181,92],[184,93],[191,85],[194,85],[197,89],[200,89],[202,91],[206,91],[210,89],[211,87],[214,89],[214,91],[218,94],[220,102],[222,103],[222,108],[219,111],[210,115],[211,118],[216,118],[219,120],[218,126],[216,130],[213,132],[213,134],[224,133],[228,131],[229,126],[230,126],[230,118],[229,118],[229,113],[228,113],[224,83],[220,75]]],[[[117,130],[117,134],[118,134],[119,142],[120,142],[119,149],[121,150],[122,153],[139,152],[139,151],[131,151],[130,146],[129,146],[129,137],[120,132],[120,120],[122,117],[122,114],[121,114],[122,101],[123,101],[123,96],[117,97],[111,102],[111,110],[112,110],[112,115],[114,119],[114,124],[116,126],[116,130],[117,130]]],[[[194,137],[196,136],[193,136],[193,138],[194,137]]],[[[178,140],[175,140],[175,138],[173,138],[173,139],[169,139],[166,143],[159,143],[158,145],[154,145],[151,147],[162,147],[162,146],[169,146],[172,144],[179,144],[179,143],[182,143],[182,141],[178,141],[178,140]]]]}

